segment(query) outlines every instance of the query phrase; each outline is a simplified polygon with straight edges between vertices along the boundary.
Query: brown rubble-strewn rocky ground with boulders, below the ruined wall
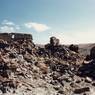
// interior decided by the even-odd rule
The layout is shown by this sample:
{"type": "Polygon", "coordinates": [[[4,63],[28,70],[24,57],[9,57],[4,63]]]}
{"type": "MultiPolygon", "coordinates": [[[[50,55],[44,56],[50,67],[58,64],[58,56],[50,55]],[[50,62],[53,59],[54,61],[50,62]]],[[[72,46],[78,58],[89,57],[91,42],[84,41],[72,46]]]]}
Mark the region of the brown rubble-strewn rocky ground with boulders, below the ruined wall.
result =
{"type": "Polygon", "coordinates": [[[77,45],[50,38],[0,40],[0,95],[95,95],[95,47],[84,56],[77,45]]]}

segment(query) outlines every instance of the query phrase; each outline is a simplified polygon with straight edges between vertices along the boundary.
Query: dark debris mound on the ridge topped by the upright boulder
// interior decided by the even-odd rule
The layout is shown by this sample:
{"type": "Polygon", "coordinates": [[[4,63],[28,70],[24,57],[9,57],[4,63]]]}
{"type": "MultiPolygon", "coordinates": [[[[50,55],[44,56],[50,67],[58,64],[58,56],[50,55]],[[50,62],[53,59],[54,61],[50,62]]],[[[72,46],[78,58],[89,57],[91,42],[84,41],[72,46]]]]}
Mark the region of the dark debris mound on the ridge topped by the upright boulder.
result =
{"type": "Polygon", "coordinates": [[[69,48],[65,45],[60,45],[59,39],[51,37],[50,43],[46,44],[44,48],[39,47],[37,53],[42,57],[55,57],[57,59],[72,61],[73,63],[75,61],[76,63],[76,61],[79,61],[81,58],[81,55],[78,53],[78,49],[79,48],[76,45],[70,45],[69,48]]]}

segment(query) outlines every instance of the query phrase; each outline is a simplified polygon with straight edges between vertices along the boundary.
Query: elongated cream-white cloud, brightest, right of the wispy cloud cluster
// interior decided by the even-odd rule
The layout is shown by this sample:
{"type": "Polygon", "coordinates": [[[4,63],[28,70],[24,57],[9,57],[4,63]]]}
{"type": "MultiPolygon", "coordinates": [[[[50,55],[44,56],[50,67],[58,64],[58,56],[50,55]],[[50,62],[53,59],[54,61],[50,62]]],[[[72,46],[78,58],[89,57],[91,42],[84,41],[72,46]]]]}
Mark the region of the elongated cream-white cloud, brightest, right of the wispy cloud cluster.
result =
{"type": "Polygon", "coordinates": [[[35,23],[35,22],[25,23],[25,26],[29,29],[33,28],[37,32],[43,32],[50,29],[50,27],[48,27],[46,24],[35,23]]]}

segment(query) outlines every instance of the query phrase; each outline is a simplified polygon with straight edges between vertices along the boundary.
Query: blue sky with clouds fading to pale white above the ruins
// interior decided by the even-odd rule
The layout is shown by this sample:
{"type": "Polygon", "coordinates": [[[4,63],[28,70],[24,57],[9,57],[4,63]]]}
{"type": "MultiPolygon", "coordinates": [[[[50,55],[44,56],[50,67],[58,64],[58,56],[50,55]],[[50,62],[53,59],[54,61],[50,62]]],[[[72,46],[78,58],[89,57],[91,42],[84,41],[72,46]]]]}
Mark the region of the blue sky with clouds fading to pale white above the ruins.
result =
{"type": "Polygon", "coordinates": [[[37,44],[95,43],[95,0],[0,0],[0,33],[32,34],[37,44]]]}

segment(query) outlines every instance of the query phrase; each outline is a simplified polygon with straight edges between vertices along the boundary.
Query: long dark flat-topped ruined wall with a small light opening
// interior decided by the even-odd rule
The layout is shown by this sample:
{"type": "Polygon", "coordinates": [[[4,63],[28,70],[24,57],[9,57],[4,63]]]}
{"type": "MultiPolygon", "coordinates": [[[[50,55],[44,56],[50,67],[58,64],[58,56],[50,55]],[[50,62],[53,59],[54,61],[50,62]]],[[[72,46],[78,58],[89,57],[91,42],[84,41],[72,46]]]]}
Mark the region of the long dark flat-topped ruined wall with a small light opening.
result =
{"type": "Polygon", "coordinates": [[[5,41],[11,40],[33,40],[31,34],[22,34],[22,33],[0,33],[0,39],[5,41]]]}

